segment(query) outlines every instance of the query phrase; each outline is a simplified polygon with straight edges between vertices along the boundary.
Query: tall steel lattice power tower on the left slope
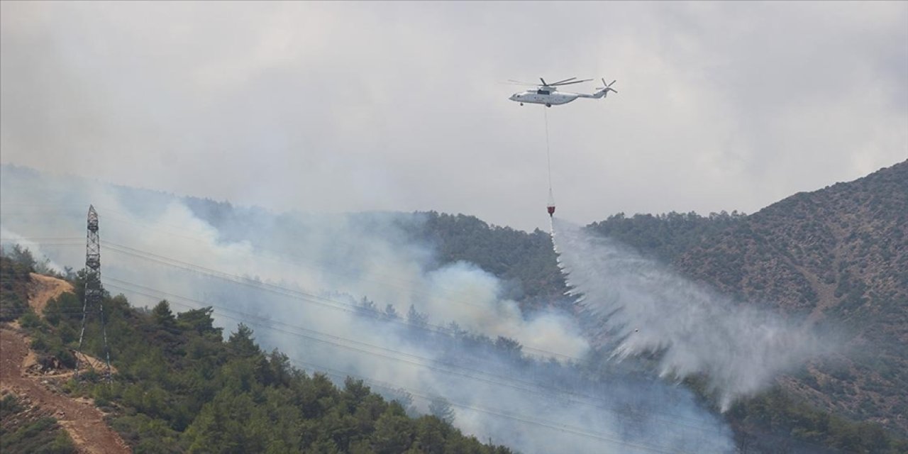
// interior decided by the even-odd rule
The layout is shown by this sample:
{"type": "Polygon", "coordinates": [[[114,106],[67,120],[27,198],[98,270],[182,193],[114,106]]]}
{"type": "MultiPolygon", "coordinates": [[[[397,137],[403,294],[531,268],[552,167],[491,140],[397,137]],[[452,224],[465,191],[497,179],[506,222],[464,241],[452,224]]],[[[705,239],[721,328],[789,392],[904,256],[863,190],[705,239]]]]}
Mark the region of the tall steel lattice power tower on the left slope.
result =
{"type": "MultiPolygon", "coordinates": [[[[98,236],[98,212],[94,206],[88,206],[88,238],[85,242],[85,298],[82,305],[82,331],[79,331],[79,350],[82,353],[82,342],[85,337],[85,321],[88,311],[98,308],[101,317],[101,333],[104,338],[104,355],[107,361],[105,380],[111,380],[111,352],[107,346],[107,327],[104,324],[104,289],[101,287],[101,239],[98,236]]],[[[89,361],[89,366],[91,362],[89,361]]],[[[75,355],[75,376],[79,376],[79,354],[75,355]]]]}

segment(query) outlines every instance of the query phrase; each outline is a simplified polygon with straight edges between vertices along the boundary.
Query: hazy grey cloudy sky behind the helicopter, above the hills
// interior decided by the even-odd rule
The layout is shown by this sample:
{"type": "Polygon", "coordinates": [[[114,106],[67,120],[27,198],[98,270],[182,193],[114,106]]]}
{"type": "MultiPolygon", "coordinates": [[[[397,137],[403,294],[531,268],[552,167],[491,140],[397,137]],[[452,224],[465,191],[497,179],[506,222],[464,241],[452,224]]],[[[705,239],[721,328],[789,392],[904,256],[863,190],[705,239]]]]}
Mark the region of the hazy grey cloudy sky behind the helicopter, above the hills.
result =
{"type": "Polygon", "coordinates": [[[908,158],[908,3],[0,3],[0,161],[276,210],[754,212],[908,158]],[[569,88],[591,92],[597,84],[569,88]],[[567,90],[567,88],[566,88],[567,90]]]}

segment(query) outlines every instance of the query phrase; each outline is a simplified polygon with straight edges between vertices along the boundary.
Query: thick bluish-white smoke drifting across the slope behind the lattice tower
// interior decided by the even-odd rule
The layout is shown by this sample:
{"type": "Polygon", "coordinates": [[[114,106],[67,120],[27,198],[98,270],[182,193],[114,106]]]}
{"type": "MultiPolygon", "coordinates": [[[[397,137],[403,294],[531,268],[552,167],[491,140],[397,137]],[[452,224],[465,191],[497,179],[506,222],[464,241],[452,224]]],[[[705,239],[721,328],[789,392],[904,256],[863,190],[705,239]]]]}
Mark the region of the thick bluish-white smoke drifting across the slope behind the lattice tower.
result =
{"type": "Polygon", "coordinates": [[[484,441],[526,453],[733,450],[689,391],[587,360],[573,317],[523,314],[489,273],[435,262],[406,233],[419,215],[205,212],[163,193],[2,172],[4,240],[33,238],[81,268],[94,203],[108,291],[138,306],[213,306],[225,331],[242,321],[305,370],[365,379],[413,412],[443,398],[484,441]]]}

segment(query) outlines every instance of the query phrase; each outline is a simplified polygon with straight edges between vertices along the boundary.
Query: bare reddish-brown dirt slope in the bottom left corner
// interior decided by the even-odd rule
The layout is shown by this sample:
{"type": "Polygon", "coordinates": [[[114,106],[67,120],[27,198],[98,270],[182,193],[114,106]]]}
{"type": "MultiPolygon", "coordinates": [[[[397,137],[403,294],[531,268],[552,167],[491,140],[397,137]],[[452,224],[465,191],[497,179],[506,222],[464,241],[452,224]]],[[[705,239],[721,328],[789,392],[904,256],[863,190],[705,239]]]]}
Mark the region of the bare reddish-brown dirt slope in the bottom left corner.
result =
{"type": "Polygon", "coordinates": [[[29,353],[25,336],[0,328],[0,390],[27,396],[36,406],[49,410],[73,438],[80,452],[119,454],[131,452],[123,439],[107,426],[104,415],[91,400],[76,400],[52,389],[52,382],[25,374],[29,353]]]}

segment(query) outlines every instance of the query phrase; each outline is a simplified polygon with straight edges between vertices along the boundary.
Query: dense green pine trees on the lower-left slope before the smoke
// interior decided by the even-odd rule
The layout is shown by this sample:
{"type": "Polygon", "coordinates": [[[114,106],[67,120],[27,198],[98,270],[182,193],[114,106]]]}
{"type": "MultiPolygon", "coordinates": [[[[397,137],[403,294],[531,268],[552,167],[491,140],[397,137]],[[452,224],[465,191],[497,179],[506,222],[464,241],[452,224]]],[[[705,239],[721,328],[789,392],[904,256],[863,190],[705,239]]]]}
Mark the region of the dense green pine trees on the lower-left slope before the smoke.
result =
{"type": "MultiPolygon", "coordinates": [[[[27,271],[0,260],[5,296],[24,301],[27,271]]],[[[80,279],[81,273],[76,289],[80,279]]],[[[39,363],[50,367],[55,358],[74,366],[80,299],[64,293],[48,302],[43,318],[16,309],[39,363]]],[[[348,378],[338,388],[325,375],[297,369],[280,351],[262,351],[245,325],[224,341],[211,308],[173,313],[161,301],[139,311],[122,295],[105,295],[104,313],[108,340],[117,346],[113,381],[104,380],[104,370],[91,371],[67,381],[64,391],[94,398],[135,452],[510,452],[453,428],[443,402],[434,409],[438,416],[412,418],[408,402],[384,400],[361,380],[348,378]]],[[[88,324],[85,350],[103,357],[99,330],[97,321],[88,324]]]]}

